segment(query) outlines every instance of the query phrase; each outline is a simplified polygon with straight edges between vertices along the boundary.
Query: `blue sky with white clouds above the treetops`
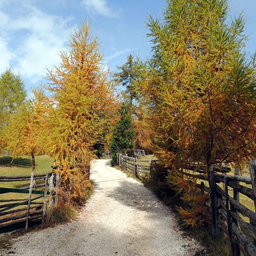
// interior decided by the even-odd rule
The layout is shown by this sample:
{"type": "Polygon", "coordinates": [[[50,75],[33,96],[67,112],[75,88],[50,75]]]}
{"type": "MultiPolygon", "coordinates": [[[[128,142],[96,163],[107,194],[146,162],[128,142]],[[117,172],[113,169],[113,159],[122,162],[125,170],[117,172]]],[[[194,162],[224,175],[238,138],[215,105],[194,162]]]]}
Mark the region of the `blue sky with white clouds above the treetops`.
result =
{"type": "MultiPolygon", "coordinates": [[[[0,73],[7,66],[20,72],[29,89],[41,83],[45,67],[59,62],[57,51],[88,18],[98,34],[105,62],[112,71],[128,54],[145,58],[148,14],[161,15],[165,0],[0,0],[0,73]]],[[[246,51],[256,50],[255,0],[229,0],[230,15],[244,10],[249,36],[246,51]]]]}

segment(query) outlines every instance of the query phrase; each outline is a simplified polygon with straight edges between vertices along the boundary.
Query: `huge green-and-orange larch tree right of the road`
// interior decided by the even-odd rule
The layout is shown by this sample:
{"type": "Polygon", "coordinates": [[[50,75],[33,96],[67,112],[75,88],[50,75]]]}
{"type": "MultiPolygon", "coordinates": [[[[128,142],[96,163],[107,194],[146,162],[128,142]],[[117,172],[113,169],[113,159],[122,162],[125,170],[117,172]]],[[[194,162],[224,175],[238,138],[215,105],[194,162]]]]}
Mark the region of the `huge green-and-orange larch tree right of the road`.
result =
{"type": "Polygon", "coordinates": [[[244,55],[244,20],[227,25],[226,0],[168,0],[150,17],[153,55],[138,83],[150,108],[158,158],[243,165],[255,153],[255,66],[244,55]]]}

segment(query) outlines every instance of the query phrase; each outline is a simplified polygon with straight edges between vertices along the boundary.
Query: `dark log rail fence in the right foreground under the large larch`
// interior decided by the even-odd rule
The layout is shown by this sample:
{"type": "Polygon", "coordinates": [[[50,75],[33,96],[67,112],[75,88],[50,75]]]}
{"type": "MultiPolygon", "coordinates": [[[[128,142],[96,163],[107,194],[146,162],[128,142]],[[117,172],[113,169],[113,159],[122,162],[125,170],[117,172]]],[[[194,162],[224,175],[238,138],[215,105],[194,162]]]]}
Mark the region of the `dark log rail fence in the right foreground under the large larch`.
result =
{"type": "Polygon", "coordinates": [[[210,194],[212,235],[224,232],[233,256],[256,255],[256,213],[239,201],[241,193],[253,200],[256,208],[256,160],[251,160],[249,166],[250,176],[239,176],[238,168],[234,175],[227,174],[230,168],[213,165],[210,175],[201,166],[183,166],[180,170],[183,178],[194,183],[201,193],[210,194]],[[247,218],[241,218],[240,214],[247,218]]]}

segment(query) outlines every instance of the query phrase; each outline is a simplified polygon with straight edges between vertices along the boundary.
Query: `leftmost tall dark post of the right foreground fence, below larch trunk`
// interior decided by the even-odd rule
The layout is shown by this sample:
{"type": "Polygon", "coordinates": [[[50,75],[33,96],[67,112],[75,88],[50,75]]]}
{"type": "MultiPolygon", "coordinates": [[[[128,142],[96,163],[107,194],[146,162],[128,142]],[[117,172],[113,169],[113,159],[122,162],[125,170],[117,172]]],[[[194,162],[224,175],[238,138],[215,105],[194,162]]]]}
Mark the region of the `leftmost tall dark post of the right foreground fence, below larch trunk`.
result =
{"type": "Polygon", "coordinates": [[[211,191],[211,210],[212,210],[212,235],[218,235],[217,225],[217,197],[216,197],[216,181],[213,164],[210,166],[210,191],[211,191]]]}

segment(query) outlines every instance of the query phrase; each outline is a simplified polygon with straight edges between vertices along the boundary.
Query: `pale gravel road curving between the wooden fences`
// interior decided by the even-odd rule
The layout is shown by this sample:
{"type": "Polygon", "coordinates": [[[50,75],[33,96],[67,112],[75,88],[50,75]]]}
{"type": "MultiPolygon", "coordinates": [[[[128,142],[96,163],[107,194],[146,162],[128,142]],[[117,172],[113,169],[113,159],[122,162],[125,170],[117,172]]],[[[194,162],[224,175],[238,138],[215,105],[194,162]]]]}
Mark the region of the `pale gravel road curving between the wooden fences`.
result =
{"type": "Polygon", "coordinates": [[[202,249],[170,208],[109,160],[94,161],[91,179],[95,192],[75,220],[15,238],[1,256],[194,256],[202,249]]]}

